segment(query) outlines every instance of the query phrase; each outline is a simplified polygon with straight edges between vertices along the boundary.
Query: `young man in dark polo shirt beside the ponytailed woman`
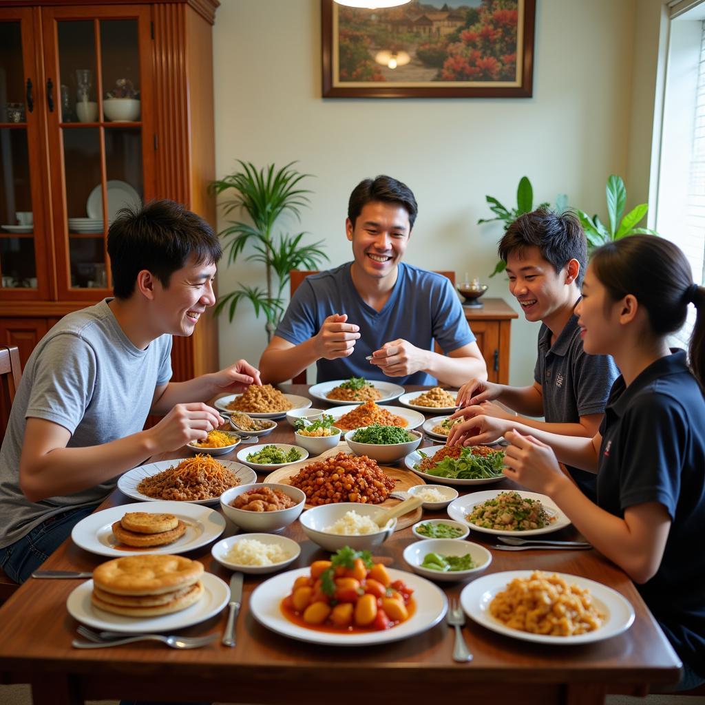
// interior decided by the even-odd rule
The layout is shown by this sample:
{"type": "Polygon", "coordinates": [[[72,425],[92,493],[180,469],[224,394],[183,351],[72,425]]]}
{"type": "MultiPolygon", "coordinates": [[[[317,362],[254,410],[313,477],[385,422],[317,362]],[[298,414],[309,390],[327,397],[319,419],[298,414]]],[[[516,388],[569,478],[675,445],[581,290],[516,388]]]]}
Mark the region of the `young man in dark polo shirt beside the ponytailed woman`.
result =
{"type": "MultiPolygon", "coordinates": [[[[545,208],[519,216],[498,246],[507,263],[509,290],[527,321],[541,321],[534,384],[511,387],[472,379],[458,393],[456,416],[478,414],[506,419],[510,430],[517,422],[561,436],[596,434],[611,386],[619,372],[608,355],[587,355],[574,313],[587,266],[587,242],[575,216],[545,208]],[[522,415],[517,417],[501,402],[522,415]],[[543,421],[527,417],[544,417],[543,421]]],[[[450,443],[465,438],[462,424],[453,429],[450,443]]],[[[471,434],[473,435],[473,434],[471,434]]],[[[595,501],[595,476],[568,467],[580,489],[595,501]]]]}

